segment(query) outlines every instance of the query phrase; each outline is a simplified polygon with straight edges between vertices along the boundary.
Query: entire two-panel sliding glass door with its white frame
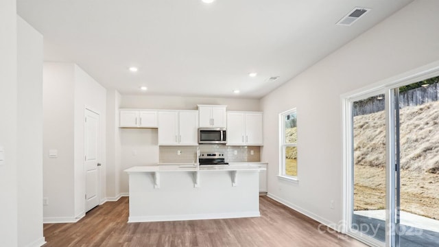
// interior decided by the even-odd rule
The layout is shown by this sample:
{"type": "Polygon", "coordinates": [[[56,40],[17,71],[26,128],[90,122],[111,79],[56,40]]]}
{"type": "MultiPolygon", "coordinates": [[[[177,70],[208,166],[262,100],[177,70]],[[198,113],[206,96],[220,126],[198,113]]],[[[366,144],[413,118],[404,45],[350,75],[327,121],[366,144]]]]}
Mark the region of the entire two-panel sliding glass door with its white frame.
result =
{"type": "Polygon", "coordinates": [[[439,246],[439,77],[346,100],[346,232],[439,246]]]}

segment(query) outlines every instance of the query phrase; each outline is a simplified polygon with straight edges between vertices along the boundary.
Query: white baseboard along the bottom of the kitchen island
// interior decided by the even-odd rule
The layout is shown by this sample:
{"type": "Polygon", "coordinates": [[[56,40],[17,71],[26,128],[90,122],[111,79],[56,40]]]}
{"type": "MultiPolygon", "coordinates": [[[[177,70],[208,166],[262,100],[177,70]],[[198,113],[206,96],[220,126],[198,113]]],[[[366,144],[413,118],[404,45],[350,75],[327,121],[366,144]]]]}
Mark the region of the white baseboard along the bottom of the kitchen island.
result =
{"type": "Polygon", "coordinates": [[[214,220],[214,219],[231,219],[239,217],[260,217],[259,211],[241,212],[241,213],[208,213],[195,215],[150,215],[150,216],[130,216],[128,223],[134,222],[164,222],[180,220],[214,220]]]}

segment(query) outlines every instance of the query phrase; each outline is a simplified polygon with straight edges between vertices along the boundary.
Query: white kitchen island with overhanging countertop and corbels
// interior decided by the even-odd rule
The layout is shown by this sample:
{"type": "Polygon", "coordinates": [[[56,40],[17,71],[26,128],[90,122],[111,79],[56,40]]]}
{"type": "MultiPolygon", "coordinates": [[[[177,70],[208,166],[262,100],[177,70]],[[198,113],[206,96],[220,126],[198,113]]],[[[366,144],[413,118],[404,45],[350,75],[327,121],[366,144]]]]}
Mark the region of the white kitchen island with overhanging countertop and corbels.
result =
{"type": "Polygon", "coordinates": [[[128,222],[258,217],[258,165],[193,164],[126,169],[130,179],[128,222]]]}

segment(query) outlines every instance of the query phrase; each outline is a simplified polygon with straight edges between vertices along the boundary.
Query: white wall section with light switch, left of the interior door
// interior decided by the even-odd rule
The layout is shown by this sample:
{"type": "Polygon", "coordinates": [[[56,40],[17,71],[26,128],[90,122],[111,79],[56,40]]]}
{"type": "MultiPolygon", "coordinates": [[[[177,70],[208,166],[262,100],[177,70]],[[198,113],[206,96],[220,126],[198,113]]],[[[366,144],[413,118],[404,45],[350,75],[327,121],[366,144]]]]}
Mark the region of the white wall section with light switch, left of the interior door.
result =
{"type": "Polygon", "coordinates": [[[43,166],[45,222],[69,221],[74,213],[73,64],[45,62],[43,73],[43,166]],[[58,158],[49,158],[58,150],[58,158]]]}

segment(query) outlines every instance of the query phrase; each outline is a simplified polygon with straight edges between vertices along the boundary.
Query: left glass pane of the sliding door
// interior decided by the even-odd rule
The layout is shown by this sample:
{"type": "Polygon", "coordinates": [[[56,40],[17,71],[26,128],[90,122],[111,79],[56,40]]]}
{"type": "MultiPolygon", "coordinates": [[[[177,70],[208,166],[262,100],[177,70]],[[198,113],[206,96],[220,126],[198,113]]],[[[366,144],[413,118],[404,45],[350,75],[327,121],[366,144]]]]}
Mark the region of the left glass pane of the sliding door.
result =
{"type": "Polygon", "coordinates": [[[352,103],[351,229],[385,242],[385,95],[352,103]]]}

